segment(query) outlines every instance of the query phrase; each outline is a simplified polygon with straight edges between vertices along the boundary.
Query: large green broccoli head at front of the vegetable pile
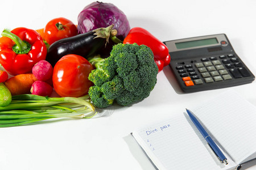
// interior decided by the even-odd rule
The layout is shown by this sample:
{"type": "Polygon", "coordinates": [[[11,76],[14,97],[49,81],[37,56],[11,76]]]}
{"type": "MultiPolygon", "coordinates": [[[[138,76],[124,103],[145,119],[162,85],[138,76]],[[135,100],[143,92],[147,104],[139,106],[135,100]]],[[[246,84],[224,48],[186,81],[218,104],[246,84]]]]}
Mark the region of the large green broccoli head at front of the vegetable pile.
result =
{"type": "Polygon", "coordinates": [[[101,63],[89,75],[94,83],[89,95],[98,108],[108,107],[113,102],[124,106],[138,103],[155,87],[158,67],[146,45],[117,44],[108,58],[97,58],[95,62],[101,63]]]}

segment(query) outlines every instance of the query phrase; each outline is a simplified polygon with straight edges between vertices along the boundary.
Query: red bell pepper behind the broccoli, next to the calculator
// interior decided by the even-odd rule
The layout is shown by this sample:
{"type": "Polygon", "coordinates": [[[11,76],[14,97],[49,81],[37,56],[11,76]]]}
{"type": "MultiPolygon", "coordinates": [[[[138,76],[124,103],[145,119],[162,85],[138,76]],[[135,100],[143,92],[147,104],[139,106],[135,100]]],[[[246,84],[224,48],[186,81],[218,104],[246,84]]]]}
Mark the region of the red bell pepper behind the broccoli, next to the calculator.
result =
{"type": "Polygon", "coordinates": [[[171,57],[167,46],[146,29],[141,27],[131,28],[125,40],[123,40],[123,44],[133,44],[134,42],[138,45],[144,44],[152,50],[155,63],[158,66],[158,72],[170,63],[171,57]]]}

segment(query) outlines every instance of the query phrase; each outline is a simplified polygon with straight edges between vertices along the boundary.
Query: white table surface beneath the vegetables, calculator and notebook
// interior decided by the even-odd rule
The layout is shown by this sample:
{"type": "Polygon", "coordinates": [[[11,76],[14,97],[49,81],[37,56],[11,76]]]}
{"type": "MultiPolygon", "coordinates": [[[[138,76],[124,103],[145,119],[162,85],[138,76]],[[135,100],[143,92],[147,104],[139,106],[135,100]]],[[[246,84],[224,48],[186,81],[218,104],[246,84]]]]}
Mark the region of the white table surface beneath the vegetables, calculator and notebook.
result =
{"type": "MultiPolygon", "coordinates": [[[[77,24],[78,14],[91,2],[1,1],[0,30],[43,28],[58,17],[77,24]]],[[[106,2],[125,12],[131,28],[143,27],[161,41],[226,33],[238,56],[256,75],[256,1],[106,2]]],[[[131,107],[105,109],[91,119],[0,129],[0,169],[155,169],[131,131],[180,114],[227,90],[183,94],[169,66],[157,78],[150,96],[131,107]]],[[[232,89],[256,105],[255,82],[232,89]]],[[[256,169],[256,165],[248,169],[256,169]]]]}

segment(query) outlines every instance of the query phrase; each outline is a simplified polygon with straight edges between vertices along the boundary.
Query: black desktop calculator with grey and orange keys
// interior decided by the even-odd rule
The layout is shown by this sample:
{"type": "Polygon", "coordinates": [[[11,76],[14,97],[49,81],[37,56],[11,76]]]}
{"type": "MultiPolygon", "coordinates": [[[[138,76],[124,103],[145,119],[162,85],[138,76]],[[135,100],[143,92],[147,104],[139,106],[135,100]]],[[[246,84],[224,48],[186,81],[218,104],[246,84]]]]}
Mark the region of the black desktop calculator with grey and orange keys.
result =
{"type": "Polygon", "coordinates": [[[238,86],[255,79],[224,33],[163,43],[169,50],[170,66],[184,92],[238,86]]]}

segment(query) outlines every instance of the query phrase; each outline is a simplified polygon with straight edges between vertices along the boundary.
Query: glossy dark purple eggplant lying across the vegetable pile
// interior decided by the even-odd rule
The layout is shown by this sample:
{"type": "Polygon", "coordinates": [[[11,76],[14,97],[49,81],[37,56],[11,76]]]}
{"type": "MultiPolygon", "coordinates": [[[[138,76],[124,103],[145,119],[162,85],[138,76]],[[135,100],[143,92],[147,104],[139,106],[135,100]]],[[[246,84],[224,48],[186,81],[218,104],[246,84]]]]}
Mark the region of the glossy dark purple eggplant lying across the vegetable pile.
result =
{"type": "Polygon", "coordinates": [[[48,48],[46,60],[54,67],[67,54],[77,54],[84,58],[94,56],[109,42],[113,27],[114,24],[53,42],[48,48]]]}

